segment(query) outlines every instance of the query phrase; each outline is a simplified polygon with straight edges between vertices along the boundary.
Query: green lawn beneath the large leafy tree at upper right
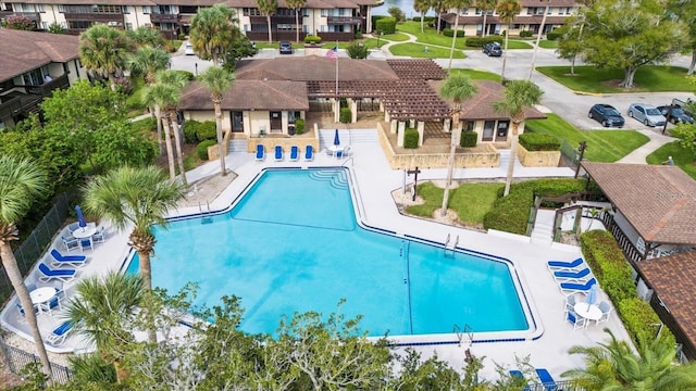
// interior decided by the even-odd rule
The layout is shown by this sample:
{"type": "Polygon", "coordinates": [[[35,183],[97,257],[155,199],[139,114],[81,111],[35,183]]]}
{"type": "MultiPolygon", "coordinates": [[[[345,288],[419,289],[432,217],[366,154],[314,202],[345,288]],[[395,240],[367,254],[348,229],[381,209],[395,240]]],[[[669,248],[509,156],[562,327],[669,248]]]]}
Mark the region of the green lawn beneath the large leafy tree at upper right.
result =
{"type": "Polygon", "coordinates": [[[686,78],[686,70],[678,66],[644,65],[635,73],[632,89],[612,87],[623,80],[622,70],[598,70],[594,66],[537,66],[536,70],[563,86],[585,92],[660,92],[693,90],[686,78]],[[611,81],[611,83],[610,83],[611,81]]]}

